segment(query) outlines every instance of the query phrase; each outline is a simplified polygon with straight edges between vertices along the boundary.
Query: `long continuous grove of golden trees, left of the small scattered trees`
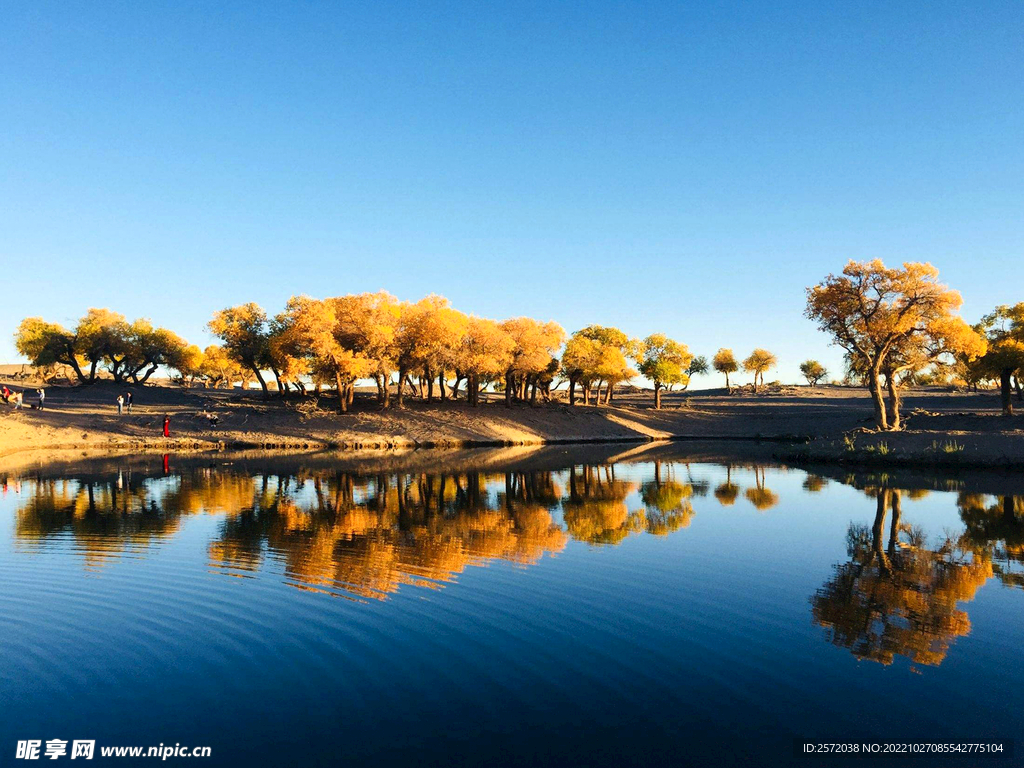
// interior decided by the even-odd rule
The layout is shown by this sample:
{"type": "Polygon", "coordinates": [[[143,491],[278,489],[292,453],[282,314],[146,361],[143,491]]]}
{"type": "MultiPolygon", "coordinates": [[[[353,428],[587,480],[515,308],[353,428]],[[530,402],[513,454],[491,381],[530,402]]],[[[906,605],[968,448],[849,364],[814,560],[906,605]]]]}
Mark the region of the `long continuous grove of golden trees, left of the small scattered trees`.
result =
{"type": "Polygon", "coordinates": [[[119,383],[142,384],[163,367],[186,385],[258,382],[266,395],[272,388],[282,397],[327,386],[343,413],[358,381],[376,383],[383,408],[401,408],[411,394],[433,401],[462,392],[477,406],[488,386],[508,404],[536,403],[551,398],[556,379],[568,384],[570,404],[578,393],[585,404],[602,404],[639,373],[655,377],[659,408],[663,388],[685,387],[708,370],[705,358],[663,335],[641,341],[588,326],[566,339],[556,323],[467,315],[436,295],[413,303],[386,292],[297,296],[272,316],[250,302],[214,312],[207,328],[220,343],[200,349],[147,321],[90,309],[71,330],[30,317],[15,344],[33,365],[67,366],[82,384],[95,382],[100,371],[119,383]]]}

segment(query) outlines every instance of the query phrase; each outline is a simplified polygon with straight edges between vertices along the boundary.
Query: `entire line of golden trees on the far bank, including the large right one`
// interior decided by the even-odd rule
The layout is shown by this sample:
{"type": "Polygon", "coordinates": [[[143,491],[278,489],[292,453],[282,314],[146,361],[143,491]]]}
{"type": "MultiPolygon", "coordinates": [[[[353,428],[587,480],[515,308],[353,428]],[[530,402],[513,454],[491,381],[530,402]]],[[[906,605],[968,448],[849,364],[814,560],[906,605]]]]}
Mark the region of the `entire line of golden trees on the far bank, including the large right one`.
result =
{"type": "MultiPolygon", "coordinates": [[[[850,261],[807,290],[805,314],[844,350],[847,378],[867,388],[881,429],[900,428],[901,389],[908,383],[950,377],[974,387],[998,382],[1004,413],[1011,415],[1014,390],[1024,399],[1024,302],[996,307],[975,326],[959,317],[961,304],[931,264],[850,261]]],[[[282,397],[328,387],[337,392],[341,412],[359,381],[376,384],[385,409],[401,408],[408,396],[429,402],[463,392],[477,406],[488,387],[507,404],[537,403],[550,400],[563,383],[569,404],[582,396],[584,404],[600,406],[638,375],[653,384],[657,409],[663,391],[685,390],[692,377],[711,370],[731,391],[730,377],[742,369],[757,393],[777,365],[760,347],[742,360],[722,348],[709,362],[664,334],[634,339],[592,325],[566,337],[554,322],[499,322],[466,314],[437,295],[406,302],[383,291],[297,296],[275,315],[252,302],[240,304],[214,312],[207,328],[219,344],[200,349],[147,319],[89,309],[70,329],[26,318],[15,345],[32,365],[65,368],[81,384],[102,376],[140,385],[164,369],[186,385],[257,382],[266,395],[272,388],[282,397]]],[[[812,385],[828,375],[814,359],[800,371],[812,385]]]]}

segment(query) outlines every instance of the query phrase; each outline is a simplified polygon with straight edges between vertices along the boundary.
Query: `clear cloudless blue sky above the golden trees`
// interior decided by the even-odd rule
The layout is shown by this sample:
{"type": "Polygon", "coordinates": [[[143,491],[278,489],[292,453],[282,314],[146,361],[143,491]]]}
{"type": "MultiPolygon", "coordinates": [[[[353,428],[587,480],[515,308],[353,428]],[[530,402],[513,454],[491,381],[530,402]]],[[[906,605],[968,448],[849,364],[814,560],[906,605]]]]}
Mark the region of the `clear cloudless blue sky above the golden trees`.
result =
{"type": "Polygon", "coordinates": [[[0,361],[383,288],[838,370],[849,258],[1024,300],[1022,97],[1019,0],[4,3],[0,361]]]}

